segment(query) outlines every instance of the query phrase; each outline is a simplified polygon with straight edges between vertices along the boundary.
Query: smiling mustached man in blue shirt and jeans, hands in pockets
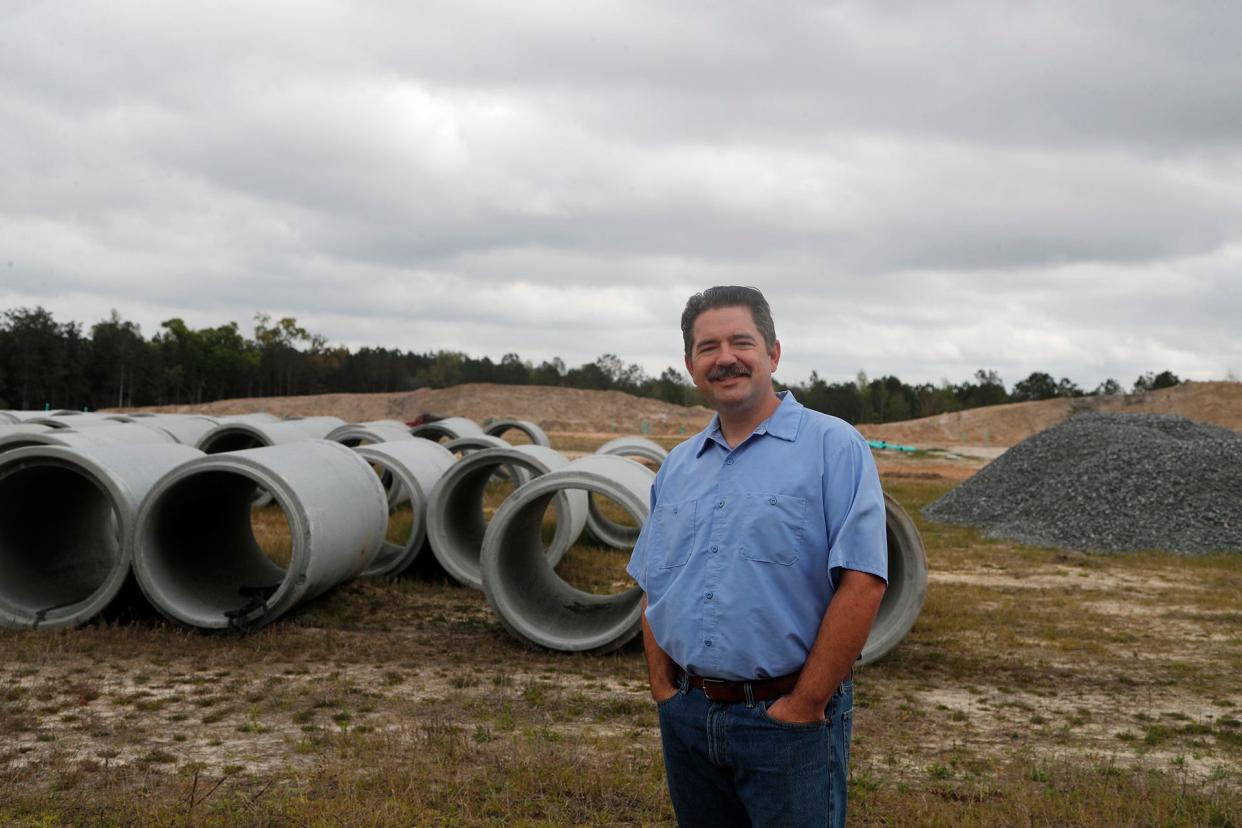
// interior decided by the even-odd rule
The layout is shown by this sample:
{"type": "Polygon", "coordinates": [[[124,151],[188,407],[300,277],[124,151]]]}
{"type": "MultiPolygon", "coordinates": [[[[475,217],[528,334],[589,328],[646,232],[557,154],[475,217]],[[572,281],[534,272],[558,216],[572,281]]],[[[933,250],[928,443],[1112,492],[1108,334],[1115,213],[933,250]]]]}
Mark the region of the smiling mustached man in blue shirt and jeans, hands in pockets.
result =
{"type": "Polygon", "coordinates": [[[628,572],[682,826],[840,826],[851,665],[884,595],[871,451],[773,390],[780,343],[754,288],[682,314],[686,369],[717,416],[651,488],[628,572]]]}

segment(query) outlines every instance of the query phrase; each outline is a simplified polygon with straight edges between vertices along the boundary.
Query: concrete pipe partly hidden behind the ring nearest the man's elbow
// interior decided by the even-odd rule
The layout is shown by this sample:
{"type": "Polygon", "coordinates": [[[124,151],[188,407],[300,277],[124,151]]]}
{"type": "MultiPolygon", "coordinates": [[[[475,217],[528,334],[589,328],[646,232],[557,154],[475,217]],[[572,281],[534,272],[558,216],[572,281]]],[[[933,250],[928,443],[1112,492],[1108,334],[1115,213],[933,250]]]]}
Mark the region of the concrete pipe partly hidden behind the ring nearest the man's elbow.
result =
{"type": "MultiPolygon", "coordinates": [[[[457,461],[440,478],[427,502],[427,541],[445,571],[466,586],[483,588],[479,559],[488,530],[483,499],[487,483],[498,469],[522,469],[527,477],[538,478],[566,466],[569,459],[546,446],[484,448],[457,461]]],[[[549,567],[569,551],[585,525],[586,492],[556,493],[556,531],[546,550],[539,539],[540,557],[549,567]]]]}

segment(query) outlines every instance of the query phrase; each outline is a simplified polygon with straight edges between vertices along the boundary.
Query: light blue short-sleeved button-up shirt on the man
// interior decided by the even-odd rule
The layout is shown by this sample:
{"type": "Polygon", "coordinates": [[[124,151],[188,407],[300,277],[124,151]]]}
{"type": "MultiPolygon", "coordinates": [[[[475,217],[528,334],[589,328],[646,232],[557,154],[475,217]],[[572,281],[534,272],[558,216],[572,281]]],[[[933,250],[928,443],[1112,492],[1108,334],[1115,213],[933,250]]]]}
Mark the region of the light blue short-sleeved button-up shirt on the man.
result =
{"type": "Polygon", "coordinates": [[[651,487],[627,571],[660,647],[694,675],[801,669],[840,570],[888,580],[884,494],[867,441],[789,391],[737,448],[719,417],[651,487]]]}

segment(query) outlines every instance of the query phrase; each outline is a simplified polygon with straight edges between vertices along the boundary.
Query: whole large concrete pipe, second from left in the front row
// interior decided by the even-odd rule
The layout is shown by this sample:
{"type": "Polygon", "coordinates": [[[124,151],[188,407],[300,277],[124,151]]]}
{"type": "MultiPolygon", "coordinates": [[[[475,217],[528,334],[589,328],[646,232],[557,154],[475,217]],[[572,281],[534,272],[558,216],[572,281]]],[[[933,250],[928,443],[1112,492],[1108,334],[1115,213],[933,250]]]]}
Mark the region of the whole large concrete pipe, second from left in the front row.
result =
{"type": "Polygon", "coordinates": [[[193,459],[155,483],[138,511],[134,574],[166,617],[202,629],[258,628],[365,571],[388,506],[371,467],[340,443],[310,439],[193,459]],[[287,567],[251,528],[256,488],[284,511],[287,567]]]}

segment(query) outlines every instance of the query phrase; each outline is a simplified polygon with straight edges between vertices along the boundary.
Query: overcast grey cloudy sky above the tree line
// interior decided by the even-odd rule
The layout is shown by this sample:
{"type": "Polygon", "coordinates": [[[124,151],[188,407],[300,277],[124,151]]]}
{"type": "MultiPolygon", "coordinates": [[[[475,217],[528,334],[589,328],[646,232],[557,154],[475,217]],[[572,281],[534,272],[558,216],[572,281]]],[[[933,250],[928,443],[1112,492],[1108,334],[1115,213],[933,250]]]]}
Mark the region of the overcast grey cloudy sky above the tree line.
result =
{"type": "Polygon", "coordinates": [[[777,379],[1242,375],[1242,4],[0,4],[0,309],[777,379]]]}

